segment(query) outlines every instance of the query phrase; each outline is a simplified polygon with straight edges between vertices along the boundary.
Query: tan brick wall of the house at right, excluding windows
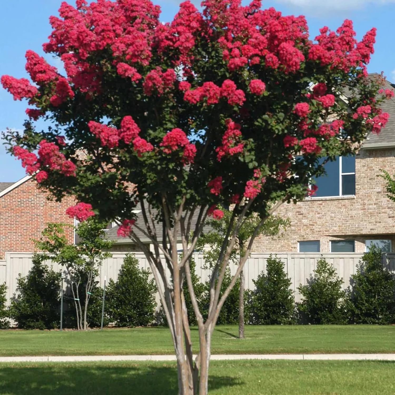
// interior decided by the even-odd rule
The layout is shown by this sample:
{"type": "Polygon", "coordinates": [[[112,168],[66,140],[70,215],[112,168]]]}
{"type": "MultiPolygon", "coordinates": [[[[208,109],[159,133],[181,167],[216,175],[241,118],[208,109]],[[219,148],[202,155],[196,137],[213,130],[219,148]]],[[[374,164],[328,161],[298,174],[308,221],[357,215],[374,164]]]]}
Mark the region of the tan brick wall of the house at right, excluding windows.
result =
{"type": "Polygon", "coordinates": [[[297,252],[298,241],[355,240],[355,252],[365,252],[366,239],[391,239],[395,249],[395,203],[386,197],[380,169],[395,173],[395,150],[361,150],[355,160],[355,197],[310,198],[284,204],[277,214],[289,217],[291,227],[280,236],[259,237],[253,252],[297,252]]]}

